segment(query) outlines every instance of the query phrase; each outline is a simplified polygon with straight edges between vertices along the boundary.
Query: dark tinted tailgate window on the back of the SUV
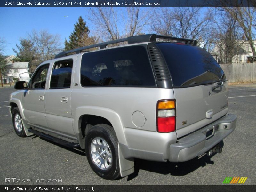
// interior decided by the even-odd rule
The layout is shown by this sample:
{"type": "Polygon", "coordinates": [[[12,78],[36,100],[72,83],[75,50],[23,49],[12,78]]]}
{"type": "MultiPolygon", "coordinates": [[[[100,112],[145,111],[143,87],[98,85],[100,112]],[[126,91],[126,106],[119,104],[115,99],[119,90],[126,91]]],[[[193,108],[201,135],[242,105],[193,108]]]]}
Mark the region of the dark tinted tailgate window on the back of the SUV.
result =
{"type": "Polygon", "coordinates": [[[220,65],[204,49],[175,43],[157,43],[164,55],[175,87],[210,84],[225,80],[220,65]]]}

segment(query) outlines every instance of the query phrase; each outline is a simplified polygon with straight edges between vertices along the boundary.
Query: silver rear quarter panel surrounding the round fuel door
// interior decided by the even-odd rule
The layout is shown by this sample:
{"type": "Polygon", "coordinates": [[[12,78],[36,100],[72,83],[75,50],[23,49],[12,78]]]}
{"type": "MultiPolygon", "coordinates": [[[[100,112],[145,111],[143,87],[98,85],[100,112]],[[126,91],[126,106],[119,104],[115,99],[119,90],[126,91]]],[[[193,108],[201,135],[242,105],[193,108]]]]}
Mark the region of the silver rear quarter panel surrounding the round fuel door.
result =
{"type": "MultiPolygon", "coordinates": [[[[81,57],[81,55],[80,55],[81,57]]],[[[71,113],[75,122],[83,115],[94,115],[95,108],[104,108],[102,117],[108,119],[114,126],[118,140],[126,143],[124,129],[140,129],[156,132],[156,103],[161,99],[173,99],[172,89],[143,88],[143,87],[82,87],[80,84],[80,63],[81,58],[77,58],[76,76],[71,94],[71,113]],[[78,112],[78,108],[84,107],[78,112]],[[107,115],[108,111],[115,113],[116,118],[107,115]],[[132,121],[132,114],[140,111],[145,117],[145,124],[141,127],[136,126],[132,121]],[[115,121],[120,121],[116,123],[115,121]]],[[[78,123],[74,125],[75,133],[79,131],[78,123]]]]}

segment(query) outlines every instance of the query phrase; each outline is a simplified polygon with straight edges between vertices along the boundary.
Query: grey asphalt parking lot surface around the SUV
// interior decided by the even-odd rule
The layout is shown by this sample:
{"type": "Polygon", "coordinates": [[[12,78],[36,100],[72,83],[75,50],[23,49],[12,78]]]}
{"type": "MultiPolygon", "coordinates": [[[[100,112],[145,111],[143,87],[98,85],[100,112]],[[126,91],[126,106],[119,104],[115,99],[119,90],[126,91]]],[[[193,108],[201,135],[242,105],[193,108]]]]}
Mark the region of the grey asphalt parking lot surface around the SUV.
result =
{"type": "Polygon", "coordinates": [[[225,177],[248,177],[243,185],[256,184],[256,86],[229,87],[229,112],[238,119],[235,131],[224,139],[221,154],[184,163],[135,159],[135,172],[115,181],[98,177],[82,150],[37,136],[18,137],[7,102],[13,91],[0,89],[0,185],[222,185],[225,177]],[[5,178],[30,179],[30,183],[5,182],[5,178]]]}

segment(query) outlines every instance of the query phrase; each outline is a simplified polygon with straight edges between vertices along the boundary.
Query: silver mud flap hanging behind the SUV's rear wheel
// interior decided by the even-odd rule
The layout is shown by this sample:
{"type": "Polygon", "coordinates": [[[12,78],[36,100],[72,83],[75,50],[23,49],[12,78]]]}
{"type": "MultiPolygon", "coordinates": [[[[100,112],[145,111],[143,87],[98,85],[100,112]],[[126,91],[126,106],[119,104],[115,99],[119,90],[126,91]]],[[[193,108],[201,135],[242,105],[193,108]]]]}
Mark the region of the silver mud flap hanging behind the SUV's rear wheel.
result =
{"type": "Polygon", "coordinates": [[[122,150],[119,146],[118,142],[118,158],[119,158],[119,167],[120,167],[120,174],[121,177],[125,177],[127,175],[130,175],[134,172],[134,159],[129,158],[125,159],[122,150]]]}

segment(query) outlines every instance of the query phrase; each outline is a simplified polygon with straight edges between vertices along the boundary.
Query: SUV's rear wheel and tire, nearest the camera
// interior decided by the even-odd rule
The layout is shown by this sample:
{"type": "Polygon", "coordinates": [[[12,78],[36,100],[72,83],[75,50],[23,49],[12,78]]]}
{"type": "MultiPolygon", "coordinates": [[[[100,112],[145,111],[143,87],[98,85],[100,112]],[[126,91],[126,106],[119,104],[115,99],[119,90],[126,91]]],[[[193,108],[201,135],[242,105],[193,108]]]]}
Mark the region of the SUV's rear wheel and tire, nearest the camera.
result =
{"type": "Polygon", "coordinates": [[[113,127],[98,124],[85,136],[85,153],[92,170],[101,178],[115,180],[120,176],[117,137],[113,127]]]}

